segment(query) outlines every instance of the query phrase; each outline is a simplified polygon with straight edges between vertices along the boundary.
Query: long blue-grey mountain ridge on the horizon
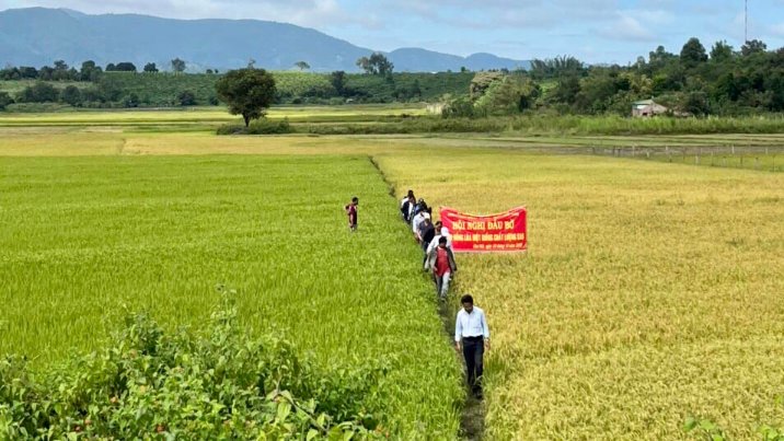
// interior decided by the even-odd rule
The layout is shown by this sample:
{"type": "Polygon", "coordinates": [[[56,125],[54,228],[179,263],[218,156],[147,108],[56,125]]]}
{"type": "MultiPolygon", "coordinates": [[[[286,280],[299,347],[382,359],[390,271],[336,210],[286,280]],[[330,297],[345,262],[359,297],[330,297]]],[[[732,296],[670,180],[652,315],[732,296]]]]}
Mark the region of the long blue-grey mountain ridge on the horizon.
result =
{"type": "MultiPolygon", "coordinates": [[[[356,71],[372,50],[315,30],[257,20],[171,20],[135,14],[88,15],[67,9],[28,8],[0,12],[0,66],[70,65],[94,60],[147,62],[169,68],[180,57],[189,70],[257,67],[291,69],[307,61],[313,71],[356,71]]],[[[436,72],[527,68],[528,61],[476,54],[468,58],[420,48],[388,54],[396,71],[436,72]]]]}

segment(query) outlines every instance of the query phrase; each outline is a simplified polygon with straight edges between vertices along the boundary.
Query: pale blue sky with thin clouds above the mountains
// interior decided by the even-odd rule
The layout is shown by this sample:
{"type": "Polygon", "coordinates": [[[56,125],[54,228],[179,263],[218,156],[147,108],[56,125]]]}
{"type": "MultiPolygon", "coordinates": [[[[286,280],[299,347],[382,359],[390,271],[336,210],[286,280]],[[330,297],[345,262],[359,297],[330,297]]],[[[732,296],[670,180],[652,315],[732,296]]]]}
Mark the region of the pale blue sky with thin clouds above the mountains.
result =
{"type": "MultiPolygon", "coordinates": [[[[748,0],[749,39],[784,46],[784,0],[748,0]]],[[[633,62],[690,37],[710,49],[743,42],[743,0],[0,0],[10,8],[69,8],[173,19],[256,19],[313,27],[357,46],[423,47],[468,56],[570,55],[591,63],[633,62]]]]}

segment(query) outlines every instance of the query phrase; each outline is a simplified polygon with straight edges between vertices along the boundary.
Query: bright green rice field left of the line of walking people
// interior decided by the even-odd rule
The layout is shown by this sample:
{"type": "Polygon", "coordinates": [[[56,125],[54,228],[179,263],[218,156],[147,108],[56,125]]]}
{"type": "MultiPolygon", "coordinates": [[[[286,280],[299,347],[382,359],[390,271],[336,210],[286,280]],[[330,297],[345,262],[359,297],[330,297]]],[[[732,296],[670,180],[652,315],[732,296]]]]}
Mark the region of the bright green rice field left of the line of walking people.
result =
{"type": "Polygon", "coordinates": [[[244,328],[331,369],[389,373],[366,405],[403,438],[458,430],[459,367],[367,158],[0,158],[0,353],[45,369],[127,311],[196,330],[238,291],[244,328]],[[343,204],[360,197],[360,230],[343,204]]]}

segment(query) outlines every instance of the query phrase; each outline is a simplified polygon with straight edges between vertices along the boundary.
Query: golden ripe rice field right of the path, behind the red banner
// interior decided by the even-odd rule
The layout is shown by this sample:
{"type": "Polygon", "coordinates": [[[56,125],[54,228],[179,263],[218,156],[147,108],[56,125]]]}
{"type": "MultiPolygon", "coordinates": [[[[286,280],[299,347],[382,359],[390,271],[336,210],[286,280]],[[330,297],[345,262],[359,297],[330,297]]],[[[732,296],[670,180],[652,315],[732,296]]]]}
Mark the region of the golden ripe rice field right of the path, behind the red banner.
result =
{"type": "Polygon", "coordinates": [[[529,209],[527,255],[460,255],[485,307],[491,439],[756,439],[784,409],[784,176],[434,149],[377,158],[399,192],[529,209]]]}

